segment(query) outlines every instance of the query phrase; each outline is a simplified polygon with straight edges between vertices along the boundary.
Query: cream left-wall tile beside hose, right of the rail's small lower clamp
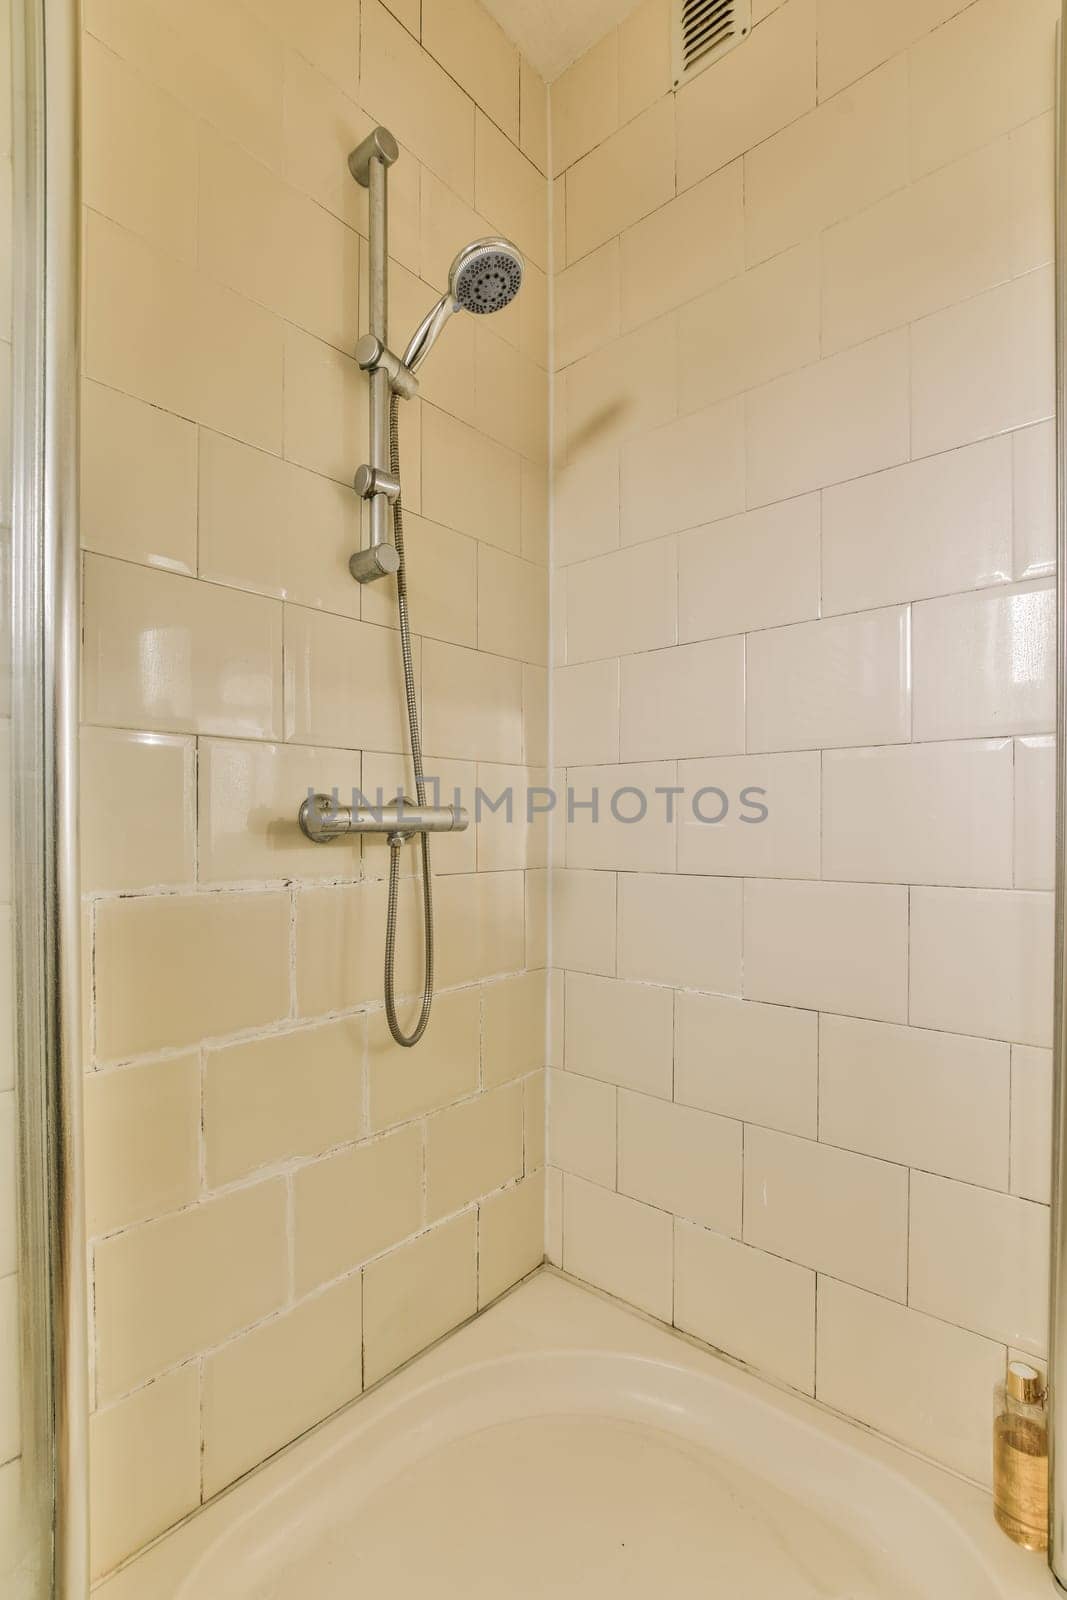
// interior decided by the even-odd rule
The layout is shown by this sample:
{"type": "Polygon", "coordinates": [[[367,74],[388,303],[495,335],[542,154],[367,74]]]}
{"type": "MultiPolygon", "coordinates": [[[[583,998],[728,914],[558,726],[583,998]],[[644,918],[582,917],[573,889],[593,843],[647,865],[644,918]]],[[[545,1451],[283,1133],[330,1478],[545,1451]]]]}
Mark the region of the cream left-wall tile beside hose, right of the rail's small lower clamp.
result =
{"type": "Polygon", "coordinates": [[[518,456],[435,406],[426,406],[422,510],[430,522],[517,554],[522,539],[518,456]],[[477,494],[472,485],[478,486],[477,494]]]}

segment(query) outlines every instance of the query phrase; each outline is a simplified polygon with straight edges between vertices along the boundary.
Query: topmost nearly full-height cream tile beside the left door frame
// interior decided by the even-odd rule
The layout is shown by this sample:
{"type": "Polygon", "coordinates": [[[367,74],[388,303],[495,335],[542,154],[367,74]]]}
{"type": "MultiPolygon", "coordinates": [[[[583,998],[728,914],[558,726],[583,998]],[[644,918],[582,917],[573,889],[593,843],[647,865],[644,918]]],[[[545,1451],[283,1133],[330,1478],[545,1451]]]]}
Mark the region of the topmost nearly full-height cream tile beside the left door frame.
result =
{"type": "Polygon", "coordinates": [[[195,261],[195,118],[91,35],[82,53],[82,174],[93,211],[195,261]]]}

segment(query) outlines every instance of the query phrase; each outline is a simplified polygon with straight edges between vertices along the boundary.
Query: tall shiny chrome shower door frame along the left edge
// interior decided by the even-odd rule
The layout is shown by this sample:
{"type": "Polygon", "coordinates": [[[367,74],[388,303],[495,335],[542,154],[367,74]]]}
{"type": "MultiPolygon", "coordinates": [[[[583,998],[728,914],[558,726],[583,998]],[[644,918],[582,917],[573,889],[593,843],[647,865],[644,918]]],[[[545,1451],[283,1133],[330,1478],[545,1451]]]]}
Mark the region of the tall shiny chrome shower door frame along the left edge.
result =
{"type": "Polygon", "coordinates": [[[24,1517],[34,1520],[54,1600],[86,1600],[77,848],[80,10],[77,0],[14,0],[11,10],[11,899],[24,1517]]]}

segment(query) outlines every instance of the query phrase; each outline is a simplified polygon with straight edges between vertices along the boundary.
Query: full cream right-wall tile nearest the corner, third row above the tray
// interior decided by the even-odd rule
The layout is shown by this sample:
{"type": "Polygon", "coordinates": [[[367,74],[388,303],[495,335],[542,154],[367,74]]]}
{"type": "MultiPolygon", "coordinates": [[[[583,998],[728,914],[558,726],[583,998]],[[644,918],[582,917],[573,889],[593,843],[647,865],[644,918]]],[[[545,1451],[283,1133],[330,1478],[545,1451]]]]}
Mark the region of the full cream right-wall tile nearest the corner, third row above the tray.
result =
{"type": "Polygon", "coordinates": [[[568,973],[566,1070],[670,1099],[673,994],[568,973]]]}

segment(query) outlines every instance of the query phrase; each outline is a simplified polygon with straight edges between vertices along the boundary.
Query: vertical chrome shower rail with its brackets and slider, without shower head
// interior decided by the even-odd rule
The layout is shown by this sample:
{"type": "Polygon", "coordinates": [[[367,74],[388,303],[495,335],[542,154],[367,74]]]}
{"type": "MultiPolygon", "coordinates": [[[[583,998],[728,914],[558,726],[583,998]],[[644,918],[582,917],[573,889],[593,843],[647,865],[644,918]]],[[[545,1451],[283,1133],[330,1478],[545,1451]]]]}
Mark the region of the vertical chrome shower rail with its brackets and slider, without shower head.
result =
{"type": "Polygon", "coordinates": [[[389,510],[400,486],[389,472],[389,403],[394,389],[406,398],[418,390],[413,374],[389,349],[389,168],[400,160],[400,146],[387,128],[374,128],[349,155],[349,171],[368,190],[370,310],[368,333],[358,341],[355,357],[370,374],[371,448],[370,462],[355,475],[355,490],[370,509],[370,542],[349,562],[360,584],[390,578],[400,566],[390,538],[389,510]]]}

